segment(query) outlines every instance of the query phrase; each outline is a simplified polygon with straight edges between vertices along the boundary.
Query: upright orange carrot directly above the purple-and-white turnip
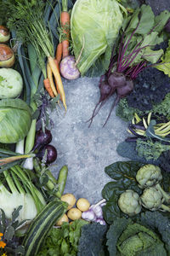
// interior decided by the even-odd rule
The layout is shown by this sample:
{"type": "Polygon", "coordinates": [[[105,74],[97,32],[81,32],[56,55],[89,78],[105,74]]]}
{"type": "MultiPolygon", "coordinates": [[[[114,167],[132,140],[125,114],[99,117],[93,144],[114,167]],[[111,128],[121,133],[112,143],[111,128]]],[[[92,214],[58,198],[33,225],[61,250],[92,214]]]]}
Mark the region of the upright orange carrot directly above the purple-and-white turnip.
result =
{"type": "Polygon", "coordinates": [[[60,15],[61,27],[63,29],[64,37],[62,41],[63,46],[63,58],[69,55],[69,38],[70,38],[70,21],[71,16],[67,9],[67,0],[62,0],[63,11],[60,15]]]}

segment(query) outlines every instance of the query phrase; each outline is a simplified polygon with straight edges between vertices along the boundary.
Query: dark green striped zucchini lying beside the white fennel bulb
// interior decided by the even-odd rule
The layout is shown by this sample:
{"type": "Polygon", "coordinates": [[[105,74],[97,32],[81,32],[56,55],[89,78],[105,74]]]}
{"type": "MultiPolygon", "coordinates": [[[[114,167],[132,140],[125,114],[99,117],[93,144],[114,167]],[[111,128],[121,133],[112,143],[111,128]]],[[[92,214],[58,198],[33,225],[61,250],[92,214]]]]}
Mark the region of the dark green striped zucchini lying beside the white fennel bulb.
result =
{"type": "Polygon", "coordinates": [[[28,232],[23,240],[25,256],[36,256],[42,241],[48,235],[59,218],[65,213],[68,204],[63,201],[54,200],[46,205],[42,212],[31,222],[28,232]]]}

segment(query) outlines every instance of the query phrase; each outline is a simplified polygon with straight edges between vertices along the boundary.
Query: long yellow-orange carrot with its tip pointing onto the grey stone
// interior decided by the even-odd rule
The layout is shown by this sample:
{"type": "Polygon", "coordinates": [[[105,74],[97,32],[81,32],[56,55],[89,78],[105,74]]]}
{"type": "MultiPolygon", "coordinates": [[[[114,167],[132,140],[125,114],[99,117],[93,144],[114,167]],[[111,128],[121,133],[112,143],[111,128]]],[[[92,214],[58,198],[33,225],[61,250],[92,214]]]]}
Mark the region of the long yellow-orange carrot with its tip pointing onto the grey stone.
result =
{"type": "Polygon", "coordinates": [[[54,74],[54,79],[58,84],[59,94],[61,96],[61,100],[63,102],[65,111],[66,111],[67,107],[66,107],[66,102],[65,102],[65,90],[64,90],[63,83],[62,83],[62,80],[61,80],[61,77],[59,74],[59,70],[55,64],[54,58],[52,58],[51,56],[48,56],[48,63],[49,63],[49,66],[51,67],[52,73],[54,74]]]}

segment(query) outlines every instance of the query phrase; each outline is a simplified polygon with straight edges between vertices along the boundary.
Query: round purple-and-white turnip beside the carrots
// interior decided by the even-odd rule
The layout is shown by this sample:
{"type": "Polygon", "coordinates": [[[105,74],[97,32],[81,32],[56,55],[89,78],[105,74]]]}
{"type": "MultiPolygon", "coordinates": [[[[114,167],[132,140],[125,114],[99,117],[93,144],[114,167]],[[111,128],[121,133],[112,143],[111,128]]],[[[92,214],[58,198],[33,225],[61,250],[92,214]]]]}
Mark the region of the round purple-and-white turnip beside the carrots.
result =
{"type": "Polygon", "coordinates": [[[59,64],[59,70],[63,78],[68,80],[78,79],[80,72],[76,67],[75,57],[70,55],[66,56],[59,64]]]}

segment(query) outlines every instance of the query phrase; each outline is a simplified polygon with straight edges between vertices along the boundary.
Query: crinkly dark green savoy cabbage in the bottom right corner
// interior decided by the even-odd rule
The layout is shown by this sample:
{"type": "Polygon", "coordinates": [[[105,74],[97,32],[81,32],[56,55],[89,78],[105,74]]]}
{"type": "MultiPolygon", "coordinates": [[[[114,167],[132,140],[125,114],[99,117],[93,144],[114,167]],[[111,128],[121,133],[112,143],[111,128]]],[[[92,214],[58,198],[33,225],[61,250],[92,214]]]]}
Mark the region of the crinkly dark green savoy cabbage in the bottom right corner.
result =
{"type": "Polygon", "coordinates": [[[111,224],[107,239],[110,255],[167,255],[159,236],[144,225],[133,223],[131,219],[116,219],[111,224]]]}

